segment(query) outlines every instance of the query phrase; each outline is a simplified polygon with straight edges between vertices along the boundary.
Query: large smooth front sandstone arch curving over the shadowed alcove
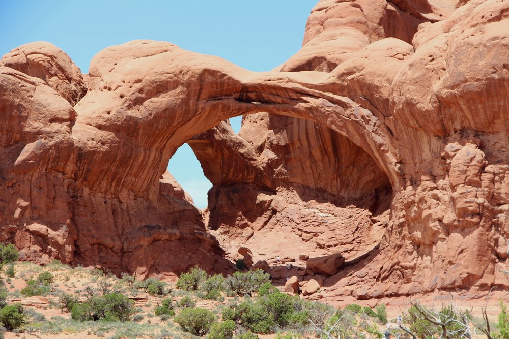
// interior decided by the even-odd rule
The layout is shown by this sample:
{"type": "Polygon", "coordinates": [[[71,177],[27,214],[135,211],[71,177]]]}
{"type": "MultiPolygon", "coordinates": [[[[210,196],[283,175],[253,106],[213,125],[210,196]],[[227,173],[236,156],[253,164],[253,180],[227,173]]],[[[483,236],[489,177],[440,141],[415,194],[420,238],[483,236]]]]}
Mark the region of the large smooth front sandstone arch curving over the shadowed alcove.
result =
{"type": "Polygon", "coordinates": [[[155,199],[154,184],[178,146],[224,119],[264,111],[310,119],[346,135],[399,187],[390,133],[369,110],[320,91],[330,89],[327,76],[249,72],[164,42],[107,48],[92,60],[89,91],[75,107],[79,181],[113,195],[127,189],[155,199]],[[123,156],[111,161],[113,154],[123,156]],[[89,161],[111,166],[94,169],[89,161]],[[143,168],[139,179],[129,168],[143,168]]]}

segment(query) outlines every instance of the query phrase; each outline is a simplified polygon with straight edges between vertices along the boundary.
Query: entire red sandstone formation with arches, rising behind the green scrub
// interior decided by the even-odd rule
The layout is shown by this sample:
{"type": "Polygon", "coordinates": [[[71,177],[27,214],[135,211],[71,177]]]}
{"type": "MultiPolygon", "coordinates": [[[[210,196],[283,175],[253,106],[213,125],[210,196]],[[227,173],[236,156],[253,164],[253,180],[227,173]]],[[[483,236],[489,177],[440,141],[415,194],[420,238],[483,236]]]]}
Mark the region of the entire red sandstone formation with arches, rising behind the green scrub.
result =
{"type": "Polygon", "coordinates": [[[228,270],[166,173],[189,140],[227,251],[344,255],[313,298],[505,288],[508,13],[509,0],[324,0],[280,69],[132,41],[94,57],[82,98],[54,80],[68,67],[31,71],[13,51],[0,67],[2,240],[116,272],[228,270]],[[235,135],[221,121],[238,115],[235,135]]]}

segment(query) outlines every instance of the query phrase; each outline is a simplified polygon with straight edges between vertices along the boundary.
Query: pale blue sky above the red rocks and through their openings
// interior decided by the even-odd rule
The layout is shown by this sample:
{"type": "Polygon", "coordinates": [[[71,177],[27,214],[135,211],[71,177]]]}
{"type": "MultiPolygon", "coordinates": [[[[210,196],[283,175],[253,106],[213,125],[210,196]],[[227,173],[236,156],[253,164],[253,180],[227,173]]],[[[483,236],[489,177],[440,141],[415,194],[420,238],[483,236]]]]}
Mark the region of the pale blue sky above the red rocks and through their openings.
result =
{"type": "MultiPolygon", "coordinates": [[[[103,48],[152,39],[218,55],[252,71],[268,71],[300,48],[307,17],[316,2],[4,0],[0,54],[27,42],[49,41],[87,73],[90,60],[103,48]]],[[[238,131],[240,117],[231,122],[238,131]]],[[[187,144],[172,157],[169,170],[196,206],[206,207],[211,184],[187,144]]]]}

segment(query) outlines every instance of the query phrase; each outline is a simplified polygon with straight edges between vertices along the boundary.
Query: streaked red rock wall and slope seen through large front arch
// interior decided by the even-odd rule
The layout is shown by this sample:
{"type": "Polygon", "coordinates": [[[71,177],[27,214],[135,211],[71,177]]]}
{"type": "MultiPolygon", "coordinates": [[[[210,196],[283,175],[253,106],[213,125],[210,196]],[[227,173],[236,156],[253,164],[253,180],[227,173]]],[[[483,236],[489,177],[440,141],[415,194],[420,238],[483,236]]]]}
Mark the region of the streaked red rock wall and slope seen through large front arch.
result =
{"type": "Polygon", "coordinates": [[[305,267],[299,258],[341,253],[355,261],[380,243],[390,180],[342,134],[306,119],[254,113],[243,117],[238,134],[223,121],[188,144],[213,183],[208,227],[230,259],[246,246],[255,261],[289,257],[305,267]]]}

